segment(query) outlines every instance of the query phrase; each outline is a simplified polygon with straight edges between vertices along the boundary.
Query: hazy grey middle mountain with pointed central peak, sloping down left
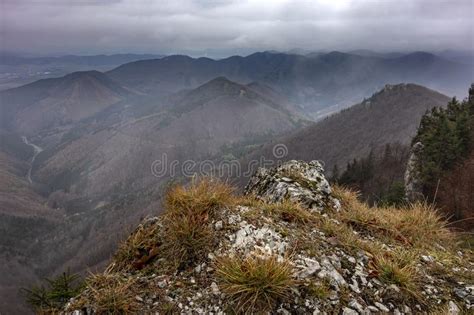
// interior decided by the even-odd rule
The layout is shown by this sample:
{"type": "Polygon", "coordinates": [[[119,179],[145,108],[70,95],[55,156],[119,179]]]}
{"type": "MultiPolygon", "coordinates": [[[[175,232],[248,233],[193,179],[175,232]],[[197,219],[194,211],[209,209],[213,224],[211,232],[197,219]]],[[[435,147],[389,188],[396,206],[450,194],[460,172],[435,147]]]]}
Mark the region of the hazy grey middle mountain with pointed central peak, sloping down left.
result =
{"type": "Polygon", "coordinates": [[[146,115],[127,116],[132,109],[122,110],[124,104],[115,105],[122,114],[117,119],[108,109],[92,122],[80,122],[58,142],[45,142],[50,147],[38,157],[33,178],[73,195],[135,191],[157,180],[143,166],[164,154],[170,161],[201,160],[224,145],[262,141],[307,123],[284,105],[223,77],[146,115]]]}

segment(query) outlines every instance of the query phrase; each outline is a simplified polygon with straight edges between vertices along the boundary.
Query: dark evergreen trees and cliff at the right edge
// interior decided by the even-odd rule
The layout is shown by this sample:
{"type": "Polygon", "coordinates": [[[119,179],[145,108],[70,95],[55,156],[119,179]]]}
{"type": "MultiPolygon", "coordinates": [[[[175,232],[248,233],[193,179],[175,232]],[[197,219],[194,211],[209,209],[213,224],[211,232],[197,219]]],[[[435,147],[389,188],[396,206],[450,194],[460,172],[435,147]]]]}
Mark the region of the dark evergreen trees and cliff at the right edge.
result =
{"type": "MultiPolygon", "coordinates": [[[[472,91],[470,91],[472,92],[472,91]]],[[[420,121],[405,184],[410,201],[436,204],[456,228],[473,229],[474,102],[452,99],[420,121]]]]}

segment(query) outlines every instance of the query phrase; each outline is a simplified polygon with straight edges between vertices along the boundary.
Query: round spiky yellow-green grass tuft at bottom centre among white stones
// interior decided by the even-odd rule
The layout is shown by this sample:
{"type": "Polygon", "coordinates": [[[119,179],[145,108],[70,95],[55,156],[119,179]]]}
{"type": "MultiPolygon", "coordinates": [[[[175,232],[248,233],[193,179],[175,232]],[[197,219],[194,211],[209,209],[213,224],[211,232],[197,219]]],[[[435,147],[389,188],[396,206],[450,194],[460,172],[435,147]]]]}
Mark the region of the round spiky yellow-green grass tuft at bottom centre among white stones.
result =
{"type": "Polygon", "coordinates": [[[275,256],[223,257],[217,261],[216,272],[220,288],[237,313],[271,311],[279,301],[289,299],[296,287],[291,264],[275,256]]]}

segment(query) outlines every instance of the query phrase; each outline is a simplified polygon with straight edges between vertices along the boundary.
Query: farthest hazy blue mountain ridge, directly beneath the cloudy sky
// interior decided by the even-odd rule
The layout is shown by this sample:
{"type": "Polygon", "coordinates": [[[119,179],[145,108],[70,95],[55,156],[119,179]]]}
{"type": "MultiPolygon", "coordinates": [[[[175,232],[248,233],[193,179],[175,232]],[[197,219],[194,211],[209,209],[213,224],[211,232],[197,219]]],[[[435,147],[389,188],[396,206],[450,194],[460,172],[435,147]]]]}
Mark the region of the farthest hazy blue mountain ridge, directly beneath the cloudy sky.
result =
{"type": "Polygon", "coordinates": [[[125,64],[107,75],[124,86],[156,95],[194,88],[217,76],[258,81],[320,118],[319,111],[347,107],[385,84],[412,82],[461,97],[473,73],[472,65],[425,52],[382,58],[335,51],[314,57],[263,52],[221,60],[167,56],[125,64]]]}

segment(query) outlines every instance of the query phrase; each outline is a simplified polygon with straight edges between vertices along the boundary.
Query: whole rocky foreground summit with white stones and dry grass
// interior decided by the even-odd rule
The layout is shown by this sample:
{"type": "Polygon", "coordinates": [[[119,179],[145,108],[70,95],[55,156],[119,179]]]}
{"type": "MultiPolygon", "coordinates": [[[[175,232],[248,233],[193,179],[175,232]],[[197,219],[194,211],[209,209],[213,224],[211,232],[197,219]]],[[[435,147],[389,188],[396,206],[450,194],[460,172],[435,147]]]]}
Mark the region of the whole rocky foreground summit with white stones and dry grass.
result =
{"type": "Polygon", "coordinates": [[[375,208],[321,165],[259,169],[244,196],[171,188],[66,314],[461,314],[472,253],[428,206],[375,208]]]}

